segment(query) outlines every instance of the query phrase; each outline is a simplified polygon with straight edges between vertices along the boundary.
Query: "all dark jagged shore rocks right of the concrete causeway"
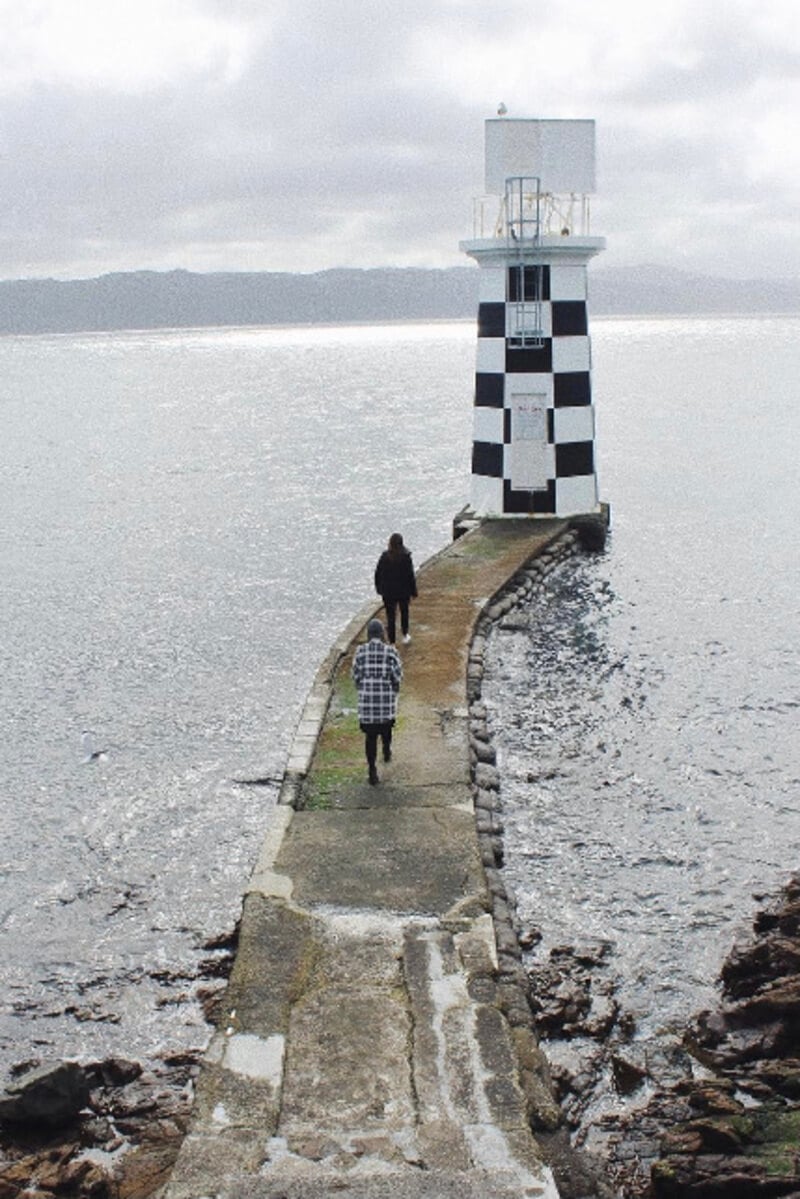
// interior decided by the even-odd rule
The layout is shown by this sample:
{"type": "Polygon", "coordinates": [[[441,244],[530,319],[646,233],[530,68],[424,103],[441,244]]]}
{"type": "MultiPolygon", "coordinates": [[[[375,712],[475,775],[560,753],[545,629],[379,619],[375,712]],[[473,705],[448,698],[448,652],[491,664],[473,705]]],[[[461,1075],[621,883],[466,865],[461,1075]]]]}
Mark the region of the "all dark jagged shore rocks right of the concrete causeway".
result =
{"type": "Polygon", "coordinates": [[[603,941],[558,946],[528,977],[566,1123],[578,1144],[591,1128],[620,1199],[800,1199],[800,875],[762,899],[682,1047],[634,1036],[603,941]],[[640,1105],[589,1126],[609,1087],[640,1105]]]}

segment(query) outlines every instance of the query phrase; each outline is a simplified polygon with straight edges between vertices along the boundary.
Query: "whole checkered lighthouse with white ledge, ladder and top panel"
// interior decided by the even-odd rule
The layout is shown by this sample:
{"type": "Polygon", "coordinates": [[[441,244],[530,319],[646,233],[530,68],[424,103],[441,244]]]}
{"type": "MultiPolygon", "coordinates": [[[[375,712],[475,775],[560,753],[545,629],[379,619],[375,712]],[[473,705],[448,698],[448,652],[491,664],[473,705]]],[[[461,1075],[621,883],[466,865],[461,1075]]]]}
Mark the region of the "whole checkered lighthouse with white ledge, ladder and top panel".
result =
{"type": "Polygon", "coordinates": [[[482,516],[600,511],[587,314],[595,122],[486,121],[470,508],[482,516]]]}

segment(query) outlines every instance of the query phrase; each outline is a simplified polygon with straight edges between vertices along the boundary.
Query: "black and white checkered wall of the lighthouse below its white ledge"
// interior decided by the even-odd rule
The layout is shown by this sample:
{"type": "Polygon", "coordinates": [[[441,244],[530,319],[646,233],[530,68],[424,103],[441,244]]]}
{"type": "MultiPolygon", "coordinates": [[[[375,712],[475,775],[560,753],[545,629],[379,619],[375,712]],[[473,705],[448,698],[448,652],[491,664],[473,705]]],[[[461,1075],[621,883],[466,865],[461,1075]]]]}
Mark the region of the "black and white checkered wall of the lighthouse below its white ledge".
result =
{"type": "Polygon", "coordinates": [[[599,507],[587,266],[549,257],[524,273],[497,258],[480,266],[471,507],[482,516],[573,516],[599,507]],[[521,309],[533,297],[536,303],[521,309]],[[535,344],[516,336],[521,312],[523,325],[535,314],[535,344]],[[512,414],[519,397],[529,397],[542,426],[531,489],[515,489],[512,414]]]}

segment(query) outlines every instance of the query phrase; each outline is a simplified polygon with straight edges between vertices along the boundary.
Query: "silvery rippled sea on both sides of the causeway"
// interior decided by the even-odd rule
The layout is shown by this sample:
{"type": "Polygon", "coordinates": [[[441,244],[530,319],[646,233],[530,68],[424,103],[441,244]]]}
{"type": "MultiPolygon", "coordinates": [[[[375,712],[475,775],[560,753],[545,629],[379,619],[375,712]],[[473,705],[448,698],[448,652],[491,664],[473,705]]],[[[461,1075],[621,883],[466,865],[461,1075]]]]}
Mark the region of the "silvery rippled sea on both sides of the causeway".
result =
{"type": "MultiPolygon", "coordinates": [[[[800,861],[800,318],[593,349],[613,531],[486,693],[523,921],[610,941],[658,1035],[800,861]]],[[[468,499],[474,356],[471,321],[0,338],[0,1076],[205,1043],[317,665],[389,534],[420,565],[468,499]]]]}

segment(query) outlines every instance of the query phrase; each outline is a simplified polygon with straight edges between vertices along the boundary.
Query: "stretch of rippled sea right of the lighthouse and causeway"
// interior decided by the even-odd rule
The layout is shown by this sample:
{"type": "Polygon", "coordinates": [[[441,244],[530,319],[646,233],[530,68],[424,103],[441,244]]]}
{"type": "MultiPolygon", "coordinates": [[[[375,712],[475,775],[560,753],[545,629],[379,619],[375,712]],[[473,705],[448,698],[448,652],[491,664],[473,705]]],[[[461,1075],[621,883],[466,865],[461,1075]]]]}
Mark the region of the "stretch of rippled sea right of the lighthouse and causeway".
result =
{"type": "MultiPolygon", "coordinates": [[[[491,640],[529,964],[602,946],[597,977],[636,1030],[621,1052],[661,1081],[757,897],[800,867],[798,332],[599,323],[607,550],[491,640]]],[[[548,1052],[575,1070],[577,1048],[548,1052]]],[[[609,1083],[591,1117],[619,1105],[609,1083]]]]}

